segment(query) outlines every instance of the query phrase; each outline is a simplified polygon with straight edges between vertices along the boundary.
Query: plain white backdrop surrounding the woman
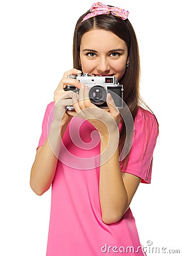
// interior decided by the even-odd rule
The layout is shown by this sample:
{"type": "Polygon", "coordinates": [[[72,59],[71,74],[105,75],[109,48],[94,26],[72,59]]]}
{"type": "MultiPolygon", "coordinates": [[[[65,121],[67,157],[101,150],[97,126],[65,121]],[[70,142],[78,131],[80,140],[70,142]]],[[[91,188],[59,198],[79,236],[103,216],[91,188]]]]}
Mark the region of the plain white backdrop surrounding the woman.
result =
{"type": "MultiPolygon", "coordinates": [[[[141,55],[141,94],[160,125],[152,183],[139,186],[131,205],[139,237],[143,246],[152,241],[182,253],[180,2],[103,1],[130,12],[141,55]]],[[[50,191],[36,196],[29,174],[46,105],[62,74],[73,67],[75,22],[92,3],[1,1],[2,256],[45,256],[50,191]]]]}

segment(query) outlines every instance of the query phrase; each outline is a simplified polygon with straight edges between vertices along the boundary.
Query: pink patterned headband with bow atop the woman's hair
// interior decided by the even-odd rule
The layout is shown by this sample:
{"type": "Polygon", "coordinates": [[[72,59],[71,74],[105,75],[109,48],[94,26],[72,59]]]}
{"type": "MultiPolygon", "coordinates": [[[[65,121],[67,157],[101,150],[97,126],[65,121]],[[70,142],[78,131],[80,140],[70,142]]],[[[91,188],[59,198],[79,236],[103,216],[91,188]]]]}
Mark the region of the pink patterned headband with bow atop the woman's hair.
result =
{"type": "Polygon", "coordinates": [[[126,11],[119,7],[109,7],[108,5],[104,5],[104,3],[97,2],[91,6],[90,13],[88,13],[86,16],[84,16],[82,22],[84,20],[90,19],[94,16],[97,16],[100,14],[108,14],[108,13],[112,13],[113,15],[118,16],[121,19],[127,19],[129,11],[126,11]]]}

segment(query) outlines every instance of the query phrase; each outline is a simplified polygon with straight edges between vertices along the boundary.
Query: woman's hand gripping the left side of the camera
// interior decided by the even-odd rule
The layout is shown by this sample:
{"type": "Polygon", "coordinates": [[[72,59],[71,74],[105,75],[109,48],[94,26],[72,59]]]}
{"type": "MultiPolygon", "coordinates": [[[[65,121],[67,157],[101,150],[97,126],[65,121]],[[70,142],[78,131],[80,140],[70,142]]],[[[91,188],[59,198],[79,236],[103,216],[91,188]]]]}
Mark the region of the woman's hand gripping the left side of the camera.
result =
{"type": "Polygon", "coordinates": [[[73,113],[69,115],[69,111],[65,111],[66,106],[73,105],[72,98],[77,98],[77,94],[71,90],[65,91],[67,85],[73,85],[76,88],[81,88],[81,84],[77,79],[69,78],[69,75],[78,75],[82,71],[78,69],[71,69],[64,73],[64,77],[61,79],[54,92],[54,122],[59,122],[61,127],[67,126],[70,119],[73,117],[73,113]],[[74,94],[74,95],[73,95],[74,94]]]}

